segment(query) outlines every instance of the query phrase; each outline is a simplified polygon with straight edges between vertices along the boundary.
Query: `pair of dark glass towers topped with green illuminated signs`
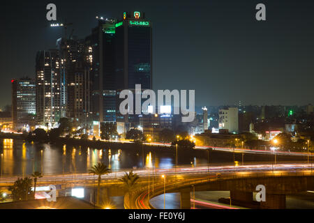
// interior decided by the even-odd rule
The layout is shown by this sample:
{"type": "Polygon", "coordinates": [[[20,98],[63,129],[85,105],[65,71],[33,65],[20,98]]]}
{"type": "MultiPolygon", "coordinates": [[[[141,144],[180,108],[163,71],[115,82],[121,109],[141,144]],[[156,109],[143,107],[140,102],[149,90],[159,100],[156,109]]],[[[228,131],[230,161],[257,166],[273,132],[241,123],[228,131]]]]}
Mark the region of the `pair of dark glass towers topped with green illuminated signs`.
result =
{"type": "Polygon", "coordinates": [[[124,13],[121,20],[99,19],[85,43],[90,50],[91,111],[94,121],[134,121],[119,114],[119,92],[152,88],[152,28],[144,13],[124,13]]]}

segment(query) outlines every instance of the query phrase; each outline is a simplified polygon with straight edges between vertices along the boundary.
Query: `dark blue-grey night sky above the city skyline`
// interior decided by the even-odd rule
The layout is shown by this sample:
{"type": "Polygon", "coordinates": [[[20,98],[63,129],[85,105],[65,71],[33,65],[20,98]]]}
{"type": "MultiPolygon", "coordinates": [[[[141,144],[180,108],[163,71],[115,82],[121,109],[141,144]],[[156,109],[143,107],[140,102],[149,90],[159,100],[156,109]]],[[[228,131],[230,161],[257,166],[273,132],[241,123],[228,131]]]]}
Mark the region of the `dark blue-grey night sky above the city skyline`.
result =
{"type": "Polygon", "coordinates": [[[10,79],[35,77],[36,52],[63,33],[48,25],[47,3],[79,38],[96,15],[143,11],[153,22],[154,90],[195,89],[197,106],[314,104],[313,0],[29,0],[1,3],[0,107],[10,104],[10,79]],[[266,22],[255,20],[257,3],[266,22]]]}

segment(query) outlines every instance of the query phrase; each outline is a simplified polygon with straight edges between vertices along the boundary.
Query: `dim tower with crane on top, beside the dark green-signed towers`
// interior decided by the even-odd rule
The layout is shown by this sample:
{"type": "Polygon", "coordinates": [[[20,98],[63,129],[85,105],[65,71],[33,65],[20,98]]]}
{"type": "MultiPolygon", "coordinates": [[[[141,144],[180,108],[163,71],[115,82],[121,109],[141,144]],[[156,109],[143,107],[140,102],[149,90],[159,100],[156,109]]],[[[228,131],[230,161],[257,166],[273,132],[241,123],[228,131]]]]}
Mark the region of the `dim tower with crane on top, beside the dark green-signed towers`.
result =
{"type": "Polygon", "coordinates": [[[66,87],[63,88],[65,95],[61,100],[66,101],[66,117],[86,124],[90,112],[90,68],[89,57],[86,58],[88,50],[85,49],[84,40],[76,38],[60,38],[57,47],[63,61],[61,78],[64,77],[62,82],[66,87]]]}

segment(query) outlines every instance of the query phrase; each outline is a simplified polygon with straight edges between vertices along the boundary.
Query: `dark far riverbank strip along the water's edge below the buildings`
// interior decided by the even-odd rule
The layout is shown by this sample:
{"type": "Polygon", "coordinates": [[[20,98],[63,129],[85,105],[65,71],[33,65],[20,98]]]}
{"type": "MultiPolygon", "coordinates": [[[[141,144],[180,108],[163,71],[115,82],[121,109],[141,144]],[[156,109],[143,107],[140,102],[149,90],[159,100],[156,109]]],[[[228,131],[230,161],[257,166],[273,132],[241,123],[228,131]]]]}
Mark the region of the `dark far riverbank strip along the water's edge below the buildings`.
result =
{"type": "MultiPolygon", "coordinates": [[[[69,137],[58,137],[50,142],[47,141],[38,141],[36,137],[29,137],[28,134],[13,134],[13,133],[0,133],[0,139],[20,139],[26,142],[35,142],[35,144],[50,144],[54,145],[57,148],[63,148],[63,145],[66,147],[82,147],[82,148],[96,148],[98,150],[110,149],[113,152],[118,151],[119,149],[123,151],[128,151],[130,154],[137,154],[144,156],[144,153],[151,151],[156,155],[164,154],[167,157],[171,157],[172,160],[175,159],[176,149],[173,147],[160,145],[150,145],[150,144],[140,144],[134,142],[124,142],[124,141],[102,141],[102,140],[90,140],[90,139],[74,139],[69,137]]],[[[1,144],[1,143],[0,143],[1,144]]],[[[269,154],[259,154],[259,153],[235,153],[234,160],[239,163],[242,162],[274,162],[274,155],[269,154]]],[[[178,163],[181,164],[190,164],[195,163],[195,157],[200,157],[203,162],[207,163],[232,163],[233,153],[228,151],[209,151],[202,148],[186,149],[178,148],[178,163]]],[[[145,158],[145,157],[144,157],[145,158]]],[[[306,157],[293,156],[293,155],[276,155],[277,162],[283,161],[306,161],[306,157]]]]}

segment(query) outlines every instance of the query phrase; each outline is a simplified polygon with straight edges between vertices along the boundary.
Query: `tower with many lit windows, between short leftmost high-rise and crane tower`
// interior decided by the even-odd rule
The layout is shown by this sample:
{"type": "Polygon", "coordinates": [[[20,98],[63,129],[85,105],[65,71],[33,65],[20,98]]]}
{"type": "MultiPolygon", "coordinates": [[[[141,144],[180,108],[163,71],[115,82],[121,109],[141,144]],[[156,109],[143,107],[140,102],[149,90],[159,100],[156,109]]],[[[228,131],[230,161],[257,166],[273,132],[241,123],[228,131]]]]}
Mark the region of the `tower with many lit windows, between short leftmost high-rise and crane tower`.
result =
{"type": "Polygon", "coordinates": [[[52,126],[65,116],[63,102],[64,61],[58,49],[43,50],[36,55],[36,116],[41,125],[52,126]]]}

